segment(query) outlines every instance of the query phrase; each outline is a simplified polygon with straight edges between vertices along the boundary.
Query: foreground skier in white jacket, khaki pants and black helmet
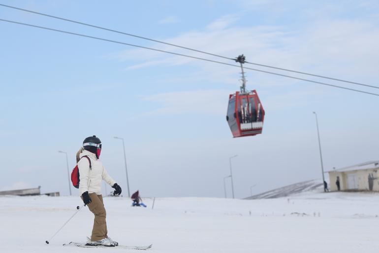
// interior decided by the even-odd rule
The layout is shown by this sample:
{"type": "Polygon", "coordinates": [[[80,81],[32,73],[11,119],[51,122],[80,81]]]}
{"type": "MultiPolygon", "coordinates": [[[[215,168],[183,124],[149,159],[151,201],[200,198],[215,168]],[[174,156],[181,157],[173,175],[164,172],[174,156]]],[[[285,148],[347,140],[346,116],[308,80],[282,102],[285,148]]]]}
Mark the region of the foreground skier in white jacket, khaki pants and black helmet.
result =
{"type": "Polygon", "coordinates": [[[115,189],[114,194],[120,195],[121,187],[108,175],[99,159],[100,152],[101,141],[95,135],[84,140],[83,151],[79,152],[79,193],[84,204],[95,215],[91,239],[87,243],[91,245],[117,246],[118,242],[113,241],[107,234],[106,211],[101,195],[101,181],[104,180],[111,185],[115,189]],[[89,159],[82,159],[84,156],[89,159]]]}

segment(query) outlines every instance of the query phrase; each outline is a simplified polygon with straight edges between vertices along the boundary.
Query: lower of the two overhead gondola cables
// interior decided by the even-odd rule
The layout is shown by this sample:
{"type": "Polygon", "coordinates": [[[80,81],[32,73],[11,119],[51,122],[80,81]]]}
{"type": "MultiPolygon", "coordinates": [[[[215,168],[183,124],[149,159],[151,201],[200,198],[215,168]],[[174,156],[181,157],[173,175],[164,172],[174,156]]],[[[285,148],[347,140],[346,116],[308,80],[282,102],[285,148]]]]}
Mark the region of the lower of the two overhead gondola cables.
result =
{"type": "MultiPolygon", "coordinates": [[[[39,29],[44,29],[44,30],[49,30],[49,31],[54,31],[54,32],[59,32],[59,33],[64,33],[64,34],[69,34],[69,35],[75,35],[75,36],[82,36],[82,37],[87,37],[87,38],[93,38],[93,39],[97,39],[97,40],[103,40],[103,41],[108,41],[108,42],[112,42],[112,43],[117,43],[117,44],[122,44],[122,45],[128,45],[128,46],[133,46],[133,47],[138,47],[138,48],[143,48],[143,49],[149,49],[149,50],[158,51],[158,52],[162,52],[162,53],[167,53],[167,54],[172,54],[172,55],[178,55],[178,56],[183,56],[183,57],[187,57],[187,58],[192,58],[192,59],[207,61],[207,62],[218,63],[218,64],[223,64],[223,65],[227,65],[227,66],[233,66],[233,67],[237,67],[237,68],[241,67],[239,65],[234,65],[234,64],[219,62],[219,61],[215,61],[215,60],[210,60],[210,59],[205,59],[205,58],[201,58],[201,57],[190,56],[190,55],[185,55],[185,54],[180,54],[180,53],[174,53],[174,52],[165,51],[165,50],[161,50],[161,49],[157,49],[157,48],[151,48],[151,47],[146,47],[146,46],[140,46],[140,45],[125,43],[125,42],[121,42],[121,41],[117,41],[117,40],[111,40],[111,39],[106,39],[106,38],[101,38],[101,37],[95,37],[95,36],[89,36],[89,35],[84,35],[84,34],[72,33],[72,32],[68,32],[68,31],[63,31],[63,30],[58,30],[58,29],[53,29],[53,28],[48,28],[48,27],[43,27],[43,26],[36,26],[36,25],[32,25],[32,24],[21,23],[21,22],[6,20],[6,19],[0,19],[0,21],[8,22],[8,23],[13,23],[13,24],[18,24],[18,25],[23,25],[23,26],[34,27],[34,28],[39,28],[39,29]]],[[[371,92],[366,92],[366,91],[362,91],[362,90],[351,89],[351,88],[347,88],[347,87],[342,87],[342,86],[338,86],[338,85],[328,84],[328,83],[324,83],[324,82],[313,81],[313,80],[299,78],[299,77],[295,77],[295,76],[290,76],[290,75],[285,75],[285,74],[280,74],[280,73],[275,73],[275,72],[268,72],[268,71],[253,69],[253,68],[246,68],[246,67],[244,67],[244,69],[253,70],[253,71],[257,71],[257,72],[264,72],[264,73],[269,73],[269,74],[284,76],[284,77],[288,77],[288,78],[298,79],[298,80],[302,80],[302,81],[317,83],[317,84],[321,84],[321,85],[331,86],[331,87],[335,87],[335,88],[340,88],[340,89],[345,89],[345,90],[350,90],[350,91],[355,91],[355,92],[370,94],[370,95],[374,95],[374,96],[379,96],[379,94],[376,94],[376,93],[371,93],[371,92]]]]}

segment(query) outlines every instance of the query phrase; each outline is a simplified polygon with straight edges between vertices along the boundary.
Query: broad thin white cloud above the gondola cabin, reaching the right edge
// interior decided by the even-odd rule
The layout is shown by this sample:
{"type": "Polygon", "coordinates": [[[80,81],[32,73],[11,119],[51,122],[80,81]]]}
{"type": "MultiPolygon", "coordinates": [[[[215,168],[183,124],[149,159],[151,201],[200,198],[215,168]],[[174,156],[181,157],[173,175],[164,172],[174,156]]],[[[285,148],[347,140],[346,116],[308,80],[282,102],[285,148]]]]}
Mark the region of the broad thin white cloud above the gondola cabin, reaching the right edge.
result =
{"type": "MultiPolygon", "coordinates": [[[[287,31],[284,27],[273,26],[233,26],[227,28],[226,24],[231,24],[232,20],[233,16],[224,17],[212,22],[203,31],[184,33],[180,36],[167,38],[164,41],[230,58],[244,53],[250,62],[316,74],[336,77],[347,75],[344,78],[348,78],[348,75],[353,73],[357,67],[362,67],[360,68],[362,78],[376,75],[375,66],[378,65],[376,59],[379,59],[379,51],[375,51],[373,48],[376,47],[375,43],[379,41],[379,28],[370,22],[329,20],[323,17],[320,21],[310,22],[298,30],[287,31]],[[215,28],[215,30],[209,30],[209,28],[215,28]],[[367,66],[371,67],[367,68],[367,66]]],[[[152,47],[167,51],[173,50],[172,47],[161,44],[155,44],[152,47]]],[[[175,49],[175,52],[233,63],[188,50],[175,49]]],[[[144,63],[138,63],[135,67],[132,65],[129,67],[130,69],[162,66],[164,63],[167,66],[191,64],[198,66],[201,70],[206,70],[208,75],[218,75],[220,79],[235,78],[234,70],[232,72],[220,72],[220,69],[225,69],[225,67],[221,68],[217,64],[180,56],[167,56],[164,53],[133,49],[119,53],[118,57],[120,60],[125,60],[132,59],[133,55],[142,55],[144,58],[140,57],[139,59],[144,63]]],[[[264,69],[253,65],[247,67],[264,69]]],[[[271,69],[268,71],[278,72],[271,69]]],[[[268,74],[252,71],[248,71],[248,73],[254,78],[253,80],[250,78],[251,82],[273,79],[273,76],[268,74]]],[[[290,79],[282,78],[282,80],[282,83],[294,82],[290,79]]]]}

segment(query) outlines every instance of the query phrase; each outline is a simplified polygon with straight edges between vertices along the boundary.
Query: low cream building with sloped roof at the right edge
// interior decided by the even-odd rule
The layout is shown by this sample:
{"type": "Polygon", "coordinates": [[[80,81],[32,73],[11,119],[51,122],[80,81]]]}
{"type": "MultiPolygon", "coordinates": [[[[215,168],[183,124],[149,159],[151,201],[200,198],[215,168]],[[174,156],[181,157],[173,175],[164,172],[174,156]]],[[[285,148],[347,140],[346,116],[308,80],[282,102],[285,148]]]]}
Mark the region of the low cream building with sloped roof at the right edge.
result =
{"type": "Polygon", "coordinates": [[[370,190],[379,191],[378,180],[379,161],[365,162],[337,170],[328,171],[329,189],[337,191],[337,181],[340,190],[370,190]]]}

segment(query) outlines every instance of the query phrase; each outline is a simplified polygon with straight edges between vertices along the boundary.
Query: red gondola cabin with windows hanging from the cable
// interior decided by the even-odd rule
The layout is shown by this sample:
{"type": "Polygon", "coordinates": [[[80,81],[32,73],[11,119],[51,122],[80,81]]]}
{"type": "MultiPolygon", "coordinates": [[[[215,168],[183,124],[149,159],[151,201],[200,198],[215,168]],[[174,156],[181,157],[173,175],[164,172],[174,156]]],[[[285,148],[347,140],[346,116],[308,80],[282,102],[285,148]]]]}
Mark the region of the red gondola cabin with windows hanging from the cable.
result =
{"type": "Polygon", "coordinates": [[[226,114],[233,137],[254,136],[262,133],[264,109],[255,90],[229,95],[226,114]]]}

